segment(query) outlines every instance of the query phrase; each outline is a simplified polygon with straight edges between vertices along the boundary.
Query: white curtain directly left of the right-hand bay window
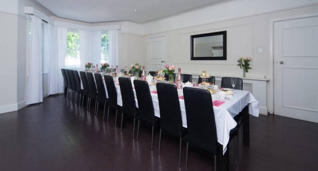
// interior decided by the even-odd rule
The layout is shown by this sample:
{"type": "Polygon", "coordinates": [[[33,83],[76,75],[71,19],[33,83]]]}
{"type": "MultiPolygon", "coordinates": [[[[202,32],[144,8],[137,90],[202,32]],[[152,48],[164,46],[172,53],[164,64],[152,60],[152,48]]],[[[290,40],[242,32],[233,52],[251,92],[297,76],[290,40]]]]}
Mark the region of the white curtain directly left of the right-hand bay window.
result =
{"type": "MultiPolygon", "coordinates": [[[[100,67],[101,58],[101,31],[89,32],[89,60],[95,66],[98,64],[100,67]]],[[[87,61],[88,62],[88,61],[87,61]]]]}

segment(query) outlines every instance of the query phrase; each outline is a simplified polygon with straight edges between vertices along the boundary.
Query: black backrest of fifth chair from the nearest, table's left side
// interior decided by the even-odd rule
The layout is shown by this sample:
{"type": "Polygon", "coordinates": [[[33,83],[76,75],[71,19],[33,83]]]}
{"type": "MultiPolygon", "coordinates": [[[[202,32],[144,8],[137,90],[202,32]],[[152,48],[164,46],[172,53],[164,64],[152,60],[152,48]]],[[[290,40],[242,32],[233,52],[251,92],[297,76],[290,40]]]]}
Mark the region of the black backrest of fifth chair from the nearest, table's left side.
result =
{"type": "Polygon", "coordinates": [[[107,95],[108,95],[108,105],[112,108],[117,108],[117,91],[112,76],[104,75],[107,95]]]}

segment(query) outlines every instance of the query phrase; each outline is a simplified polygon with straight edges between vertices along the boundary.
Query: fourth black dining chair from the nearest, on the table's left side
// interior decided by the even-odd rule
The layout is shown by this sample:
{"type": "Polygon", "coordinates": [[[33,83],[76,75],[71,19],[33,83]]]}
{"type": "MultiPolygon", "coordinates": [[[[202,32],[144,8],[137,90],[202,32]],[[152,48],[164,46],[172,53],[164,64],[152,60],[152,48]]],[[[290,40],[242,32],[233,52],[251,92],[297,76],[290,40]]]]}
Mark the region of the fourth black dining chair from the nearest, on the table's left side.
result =
{"type": "MultiPolygon", "coordinates": [[[[135,122],[136,117],[138,117],[138,109],[136,108],[135,95],[134,95],[133,87],[131,85],[130,78],[119,77],[118,81],[119,81],[119,87],[120,87],[121,99],[122,99],[121,128],[120,128],[120,131],[121,131],[124,114],[133,117],[135,122]]],[[[134,136],[135,136],[135,127],[133,128],[133,138],[134,136]]]]}

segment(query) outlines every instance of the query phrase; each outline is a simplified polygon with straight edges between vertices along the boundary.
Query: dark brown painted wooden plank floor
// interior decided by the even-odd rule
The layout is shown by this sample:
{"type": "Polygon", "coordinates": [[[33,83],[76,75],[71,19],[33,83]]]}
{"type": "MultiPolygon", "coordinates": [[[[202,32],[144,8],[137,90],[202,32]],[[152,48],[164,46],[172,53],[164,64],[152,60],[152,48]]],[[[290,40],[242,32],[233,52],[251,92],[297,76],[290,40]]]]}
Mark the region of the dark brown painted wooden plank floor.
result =
{"type": "MultiPolygon", "coordinates": [[[[84,108],[86,109],[86,108],[84,108]]],[[[93,107],[92,107],[93,109],[93,107]]],[[[109,122],[66,100],[51,95],[43,103],[0,114],[0,170],[184,170],[178,166],[178,139],[158,130],[150,150],[151,129],[141,126],[137,142],[132,121],[122,132],[109,122]]],[[[241,136],[241,133],[239,132],[241,136]]],[[[317,170],[318,124],[277,115],[250,116],[250,146],[239,138],[238,165],[230,142],[230,170],[317,170]]],[[[189,148],[188,170],[213,170],[213,156],[189,148]]]]}

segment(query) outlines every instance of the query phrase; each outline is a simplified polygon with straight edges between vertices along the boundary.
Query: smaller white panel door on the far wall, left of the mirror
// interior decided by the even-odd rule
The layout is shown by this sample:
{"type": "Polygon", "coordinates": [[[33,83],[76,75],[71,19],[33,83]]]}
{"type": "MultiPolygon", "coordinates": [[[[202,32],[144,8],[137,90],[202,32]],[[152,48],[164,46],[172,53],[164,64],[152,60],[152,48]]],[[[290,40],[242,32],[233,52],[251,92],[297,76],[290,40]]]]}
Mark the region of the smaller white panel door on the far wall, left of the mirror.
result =
{"type": "Polygon", "coordinates": [[[148,71],[163,69],[166,61],[166,36],[148,39],[148,71]]]}

